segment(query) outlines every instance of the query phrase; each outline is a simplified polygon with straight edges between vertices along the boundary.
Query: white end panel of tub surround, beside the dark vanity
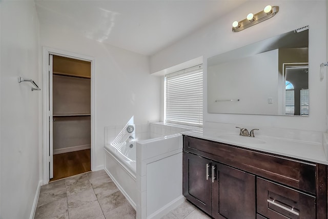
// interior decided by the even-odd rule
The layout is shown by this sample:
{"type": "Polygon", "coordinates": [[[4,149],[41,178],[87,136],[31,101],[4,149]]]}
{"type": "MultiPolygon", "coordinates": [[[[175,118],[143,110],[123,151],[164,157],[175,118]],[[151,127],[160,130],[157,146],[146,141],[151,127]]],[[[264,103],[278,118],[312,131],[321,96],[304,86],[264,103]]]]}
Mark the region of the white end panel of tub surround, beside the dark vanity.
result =
{"type": "Polygon", "coordinates": [[[137,143],[137,185],[138,219],[161,218],[185,201],[181,134],[137,143]]]}

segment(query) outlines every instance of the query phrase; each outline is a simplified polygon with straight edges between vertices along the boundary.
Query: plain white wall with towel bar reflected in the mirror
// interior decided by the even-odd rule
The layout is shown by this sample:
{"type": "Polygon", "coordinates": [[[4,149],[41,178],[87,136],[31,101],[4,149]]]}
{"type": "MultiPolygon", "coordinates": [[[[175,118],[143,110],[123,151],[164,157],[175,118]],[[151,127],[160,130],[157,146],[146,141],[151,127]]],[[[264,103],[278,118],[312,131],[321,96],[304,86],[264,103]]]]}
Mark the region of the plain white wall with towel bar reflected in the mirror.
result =
{"type": "Polygon", "coordinates": [[[277,72],[278,49],[240,58],[238,65],[232,60],[209,66],[208,75],[212,78],[208,81],[209,112],[278,114],[277,72]],[[263,74],[263,69],[268,72],[263,74]],[[268,98],[272,98],[271,104],[268,98]],[[239,102],[215,102],[227,99],[239,102]]]}

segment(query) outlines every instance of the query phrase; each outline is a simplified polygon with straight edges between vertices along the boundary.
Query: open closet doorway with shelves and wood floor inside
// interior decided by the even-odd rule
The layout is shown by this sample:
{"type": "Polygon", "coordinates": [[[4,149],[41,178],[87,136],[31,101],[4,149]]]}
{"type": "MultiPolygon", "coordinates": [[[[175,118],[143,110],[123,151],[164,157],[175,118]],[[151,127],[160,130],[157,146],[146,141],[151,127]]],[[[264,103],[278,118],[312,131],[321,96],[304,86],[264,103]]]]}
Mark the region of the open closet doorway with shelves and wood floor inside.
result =
{"type": "Polygon", "coordinates": [[[91,62],[49,54],[49,181],[91,170],[91,62]]]}

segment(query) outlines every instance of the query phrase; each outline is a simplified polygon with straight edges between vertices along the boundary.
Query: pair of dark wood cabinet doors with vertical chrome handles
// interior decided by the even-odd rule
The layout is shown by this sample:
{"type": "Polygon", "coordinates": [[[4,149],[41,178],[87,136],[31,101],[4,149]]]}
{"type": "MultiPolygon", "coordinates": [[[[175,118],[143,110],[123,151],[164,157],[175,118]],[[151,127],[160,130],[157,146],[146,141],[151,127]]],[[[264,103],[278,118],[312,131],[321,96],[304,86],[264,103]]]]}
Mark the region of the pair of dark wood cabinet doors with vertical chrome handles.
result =
{"type": "Polygon", "coordinates": [[[183,154],[183,195],[215,218],[255,218],[255,175],[183,154]]]}

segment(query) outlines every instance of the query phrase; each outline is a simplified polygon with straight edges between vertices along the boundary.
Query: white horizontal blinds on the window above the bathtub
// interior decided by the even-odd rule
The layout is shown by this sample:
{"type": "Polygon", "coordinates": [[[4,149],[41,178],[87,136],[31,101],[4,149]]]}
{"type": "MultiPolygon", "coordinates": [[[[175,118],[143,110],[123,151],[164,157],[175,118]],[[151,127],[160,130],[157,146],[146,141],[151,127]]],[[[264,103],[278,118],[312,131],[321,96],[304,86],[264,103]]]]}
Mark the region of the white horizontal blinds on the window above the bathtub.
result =
{"type": "Polygon", "coordinates": [[[166,75],[165,87],[165,121],[168,123],[202,126],[202,65],[166,75]]]}

